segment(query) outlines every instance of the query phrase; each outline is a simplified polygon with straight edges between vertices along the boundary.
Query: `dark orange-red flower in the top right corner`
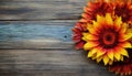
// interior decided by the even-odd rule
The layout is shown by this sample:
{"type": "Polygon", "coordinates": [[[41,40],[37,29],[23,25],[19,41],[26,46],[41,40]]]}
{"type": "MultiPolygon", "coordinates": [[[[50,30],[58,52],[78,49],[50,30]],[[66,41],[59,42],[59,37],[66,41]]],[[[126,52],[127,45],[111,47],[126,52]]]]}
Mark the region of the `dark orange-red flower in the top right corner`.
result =
{"type": "Polygon", "coordinates": [[[122,18],[123,22],[132,23],[132,2],[131,0],[116,0],[114,14],[122,18]]]}

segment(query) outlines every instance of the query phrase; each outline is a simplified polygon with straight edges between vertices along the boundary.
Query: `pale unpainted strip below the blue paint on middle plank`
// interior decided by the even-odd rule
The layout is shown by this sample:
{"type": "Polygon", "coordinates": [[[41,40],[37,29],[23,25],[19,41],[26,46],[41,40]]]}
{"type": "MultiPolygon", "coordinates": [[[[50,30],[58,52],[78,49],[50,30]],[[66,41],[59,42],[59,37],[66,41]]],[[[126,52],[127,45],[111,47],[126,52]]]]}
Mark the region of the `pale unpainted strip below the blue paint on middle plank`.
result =
{"type": "Polygon", "coordinates": [[[0,41],[0,48],[4,50],[54,50],[54,48],[74,48],[72,42],[63,42],[59,40],[23,40],[23,41],[0,41]]]}

